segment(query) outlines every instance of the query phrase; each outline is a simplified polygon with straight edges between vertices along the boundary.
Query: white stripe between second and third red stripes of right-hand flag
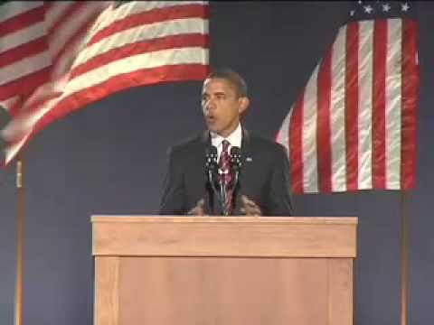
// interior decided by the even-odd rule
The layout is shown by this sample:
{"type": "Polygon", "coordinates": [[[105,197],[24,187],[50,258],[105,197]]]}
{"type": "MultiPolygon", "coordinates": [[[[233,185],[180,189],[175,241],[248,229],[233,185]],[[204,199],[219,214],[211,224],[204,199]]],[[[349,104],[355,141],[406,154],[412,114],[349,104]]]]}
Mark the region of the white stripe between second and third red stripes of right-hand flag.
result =
{"type": "Polygon", "coordinates": [[[346,190],[345,62],[346,26],[341,27],[332,48],[330,87],[331,190],[346,190]],[[334,107],[334,109],[331,109],[334,107]]]}

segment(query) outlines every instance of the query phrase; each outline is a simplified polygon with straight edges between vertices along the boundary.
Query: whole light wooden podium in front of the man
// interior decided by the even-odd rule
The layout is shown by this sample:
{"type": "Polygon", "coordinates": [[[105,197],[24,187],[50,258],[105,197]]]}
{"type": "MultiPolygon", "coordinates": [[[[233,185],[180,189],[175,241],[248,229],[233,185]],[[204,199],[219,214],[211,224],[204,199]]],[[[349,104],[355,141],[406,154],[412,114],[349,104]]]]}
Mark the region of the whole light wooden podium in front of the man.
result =
{"type": "Polygon", "coordinates": [[[357,218],[91,220],[95,325],[353,323],[357,218]]]}

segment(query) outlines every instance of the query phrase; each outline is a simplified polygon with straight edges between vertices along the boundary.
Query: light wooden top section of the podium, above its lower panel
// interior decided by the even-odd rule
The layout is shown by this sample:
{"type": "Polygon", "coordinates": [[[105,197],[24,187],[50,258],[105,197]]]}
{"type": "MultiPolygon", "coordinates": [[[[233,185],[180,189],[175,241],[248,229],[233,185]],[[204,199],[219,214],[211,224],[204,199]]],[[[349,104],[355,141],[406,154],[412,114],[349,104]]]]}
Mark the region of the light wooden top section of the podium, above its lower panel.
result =
{"type": "Polygon", "coordinates": [[[93,255],[355,257],[357,218],[92,216],[93,255]]]}

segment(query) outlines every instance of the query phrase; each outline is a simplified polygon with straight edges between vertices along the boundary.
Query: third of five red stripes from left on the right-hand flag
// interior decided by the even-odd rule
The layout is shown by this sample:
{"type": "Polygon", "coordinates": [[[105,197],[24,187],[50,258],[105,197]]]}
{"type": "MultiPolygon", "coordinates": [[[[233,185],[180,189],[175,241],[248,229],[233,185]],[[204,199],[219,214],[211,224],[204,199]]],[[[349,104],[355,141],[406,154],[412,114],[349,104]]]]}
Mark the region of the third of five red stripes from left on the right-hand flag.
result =
{"type": "Polygon", "coordinates": [[[359,142],[359,24],[349,23],[346,32],[346,188],[358,189],[359,142]]]}

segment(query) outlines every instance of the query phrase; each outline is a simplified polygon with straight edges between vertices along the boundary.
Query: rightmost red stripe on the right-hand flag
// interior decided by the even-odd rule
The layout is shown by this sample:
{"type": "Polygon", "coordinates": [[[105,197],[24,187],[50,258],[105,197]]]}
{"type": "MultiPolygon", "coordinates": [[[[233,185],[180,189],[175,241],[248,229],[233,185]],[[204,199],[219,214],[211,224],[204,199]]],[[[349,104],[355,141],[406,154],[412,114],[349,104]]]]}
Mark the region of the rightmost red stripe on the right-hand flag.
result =
{"type": "Polygon", "coordinates": [[[402,26],[402,133],[401,133],[401,182],[404,190],[414,188],[416,181],[417,107],[419,89],[419,62],[417,61],[418,25],[403,20],[402,26]]]}

